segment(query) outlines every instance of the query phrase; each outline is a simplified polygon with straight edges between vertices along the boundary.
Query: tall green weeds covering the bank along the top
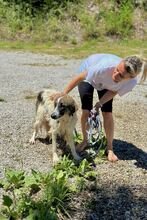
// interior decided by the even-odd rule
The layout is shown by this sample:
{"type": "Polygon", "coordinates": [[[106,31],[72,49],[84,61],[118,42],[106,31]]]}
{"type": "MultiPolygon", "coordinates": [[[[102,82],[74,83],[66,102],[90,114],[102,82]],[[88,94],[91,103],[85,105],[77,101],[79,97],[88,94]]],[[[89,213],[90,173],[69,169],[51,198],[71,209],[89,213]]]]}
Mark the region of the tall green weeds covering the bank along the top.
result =
{"type": "MultiPolygon", "coordinates": [[[[100,40],[112,35],[119,39],[133,37],[136,7],[142,10],[141,23],[146,19],[144,2],[137,5],[131,0],[111,0],[106,5],[95,0],[91,7],[89,1],[1,0],[0,37],[34,44],[51,41],[76,45],[84,40],[100,40]]],[[[145,30],[144,33],[145,39],[145,30]]]]}

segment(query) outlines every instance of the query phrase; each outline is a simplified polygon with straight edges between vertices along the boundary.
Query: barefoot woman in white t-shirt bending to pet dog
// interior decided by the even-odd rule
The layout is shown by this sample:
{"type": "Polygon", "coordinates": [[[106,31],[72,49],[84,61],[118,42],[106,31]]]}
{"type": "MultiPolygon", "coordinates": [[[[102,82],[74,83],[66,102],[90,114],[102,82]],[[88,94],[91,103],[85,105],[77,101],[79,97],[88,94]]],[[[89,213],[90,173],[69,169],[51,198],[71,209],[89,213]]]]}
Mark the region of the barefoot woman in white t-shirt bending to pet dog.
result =
{"type": "Polygon", "coordinates": [[[137,84],[137,75],[142,73],[141,81],[147,77],[147,60],[139,56],[130,56],[122,59],[112,54],[94,54],[83,61],[79,74],[66,86],[63,92],[55,94],[54,99],[68,94],[75,86],[82,103],[81,129],[82,143],[77,146],[77,151],[82,151],[88,144],[87,119],[92,109],[93,92],[97,90],[99,102],[95,107],[101,108],[104,129],[107,139],[108,160],[118,160],[113,152],[114,121],[112,113],[113,98],[131,91],[137,84]]]}

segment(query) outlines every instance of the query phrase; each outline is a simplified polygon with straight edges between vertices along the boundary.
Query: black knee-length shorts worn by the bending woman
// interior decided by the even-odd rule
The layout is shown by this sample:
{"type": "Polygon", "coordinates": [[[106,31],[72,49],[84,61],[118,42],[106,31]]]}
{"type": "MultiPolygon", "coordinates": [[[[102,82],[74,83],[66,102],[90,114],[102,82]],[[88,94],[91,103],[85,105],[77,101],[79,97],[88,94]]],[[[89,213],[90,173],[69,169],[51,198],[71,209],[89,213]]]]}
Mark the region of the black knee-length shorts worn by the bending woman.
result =
{"type": "MultiPolygon", "coordinates": [[[[78,85],[78,90],[81,98],[82,109],[91,110],[93,108],[93,93],[94,87],[90,85],[88,82],[82,81],[78,85]]],[[[99,99],[107,92],[107,89],[98,91],[99,99]]],[[[112,112],[112,102],[113,99],[106,102],[103,107],[101,108],[102,112],[112,112]]],[[[96,104],[96,103],[95,103],[96,104]]]]}

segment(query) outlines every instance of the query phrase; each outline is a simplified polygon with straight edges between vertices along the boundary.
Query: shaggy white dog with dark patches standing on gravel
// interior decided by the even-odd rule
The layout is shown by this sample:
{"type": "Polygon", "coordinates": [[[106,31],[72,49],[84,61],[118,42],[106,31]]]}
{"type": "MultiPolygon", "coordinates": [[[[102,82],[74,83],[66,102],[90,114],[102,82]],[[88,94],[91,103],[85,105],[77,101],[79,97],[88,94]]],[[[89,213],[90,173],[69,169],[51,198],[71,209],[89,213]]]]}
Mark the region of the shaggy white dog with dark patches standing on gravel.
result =
{"type": "Polygon", "coordinates": [[[34,133],[30,143],[35,143],[37,133],[43,127],[47,136],[52,136],[53,162],[58,161],[56,152],[57,135],[64,138],[66,144],[70,146],[73,157],[79,160],[73,140],[73,132],[77,122],[78,110],[75,100],[65,95],[57,99],[56,102],[51,100],[51,94],[56,93],[53,90],[44,90],[38,94],[36,102],[36,121],[34,124],[34,133]]]}

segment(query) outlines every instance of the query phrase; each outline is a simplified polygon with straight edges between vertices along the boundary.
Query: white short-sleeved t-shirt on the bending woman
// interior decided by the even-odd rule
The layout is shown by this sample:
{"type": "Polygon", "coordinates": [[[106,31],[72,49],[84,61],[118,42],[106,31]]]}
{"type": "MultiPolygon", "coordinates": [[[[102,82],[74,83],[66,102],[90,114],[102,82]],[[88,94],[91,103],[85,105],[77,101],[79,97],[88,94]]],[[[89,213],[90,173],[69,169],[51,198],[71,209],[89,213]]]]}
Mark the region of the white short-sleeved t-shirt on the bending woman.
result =
{"type": "Polygon", "coordinates": [[[137,84],[137,78],[114,82],[112,73],[122,58],[112,54],[94,54],[88,57],[79,68],[79,72],[88,71],[85,81],[95,89],[116,91],[120,96],[131,91],[137,84]]]}

